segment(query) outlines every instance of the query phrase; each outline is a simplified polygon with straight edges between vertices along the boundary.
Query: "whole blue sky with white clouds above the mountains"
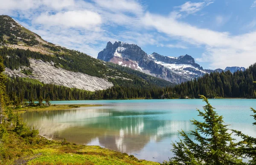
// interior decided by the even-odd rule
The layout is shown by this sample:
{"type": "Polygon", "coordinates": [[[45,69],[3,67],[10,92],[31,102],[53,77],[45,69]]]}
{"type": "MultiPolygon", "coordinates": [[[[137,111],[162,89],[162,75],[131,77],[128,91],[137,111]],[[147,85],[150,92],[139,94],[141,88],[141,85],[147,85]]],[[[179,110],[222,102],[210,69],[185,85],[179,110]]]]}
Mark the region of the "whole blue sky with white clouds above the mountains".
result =
{"type": "Polygon", "coordinates": [[[97,57],[108,41],[191,55],[205,69],[256,62],[256,0],[0,0],[45,40],[97,57]]]}

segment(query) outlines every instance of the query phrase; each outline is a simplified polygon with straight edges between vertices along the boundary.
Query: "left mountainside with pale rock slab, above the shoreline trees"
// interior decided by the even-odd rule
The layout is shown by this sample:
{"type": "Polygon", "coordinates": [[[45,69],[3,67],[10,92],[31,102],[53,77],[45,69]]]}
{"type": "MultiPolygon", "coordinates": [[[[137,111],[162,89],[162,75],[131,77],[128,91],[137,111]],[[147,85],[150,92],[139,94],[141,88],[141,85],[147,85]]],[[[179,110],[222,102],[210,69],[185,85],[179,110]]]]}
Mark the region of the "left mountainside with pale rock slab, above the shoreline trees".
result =
{"type": "Polygon", "coordinates": [[[43,40],[12,17],[0,15],[0,56],[5,73],[70,88],[95,91],[113,86],[166,87],[168,81],[43,40]]]}

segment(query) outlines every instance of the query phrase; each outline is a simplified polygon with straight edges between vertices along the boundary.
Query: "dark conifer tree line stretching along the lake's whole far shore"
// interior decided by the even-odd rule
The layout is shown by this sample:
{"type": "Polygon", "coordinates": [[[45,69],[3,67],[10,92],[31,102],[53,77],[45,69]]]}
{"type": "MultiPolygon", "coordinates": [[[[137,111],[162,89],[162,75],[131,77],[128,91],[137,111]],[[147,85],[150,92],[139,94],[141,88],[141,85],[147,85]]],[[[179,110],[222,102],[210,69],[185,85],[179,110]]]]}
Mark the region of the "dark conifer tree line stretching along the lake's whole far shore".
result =
{"type": "Polygon", "coordinates": [[[208,98],[256,98],[256,85],[253,83],[255,73],[256,64],[253,64],[244,72],[214,72],[175,87],[142,87],[142,82],[138,81],[138,86],[121,84],[95,92],[17,77],[8,78],[5,85],[10,100],[17,104],[29,100],[38,101],[39,98],[45,100],[48,96],[51,100],[199,98],[199,94],[208,98]]]}

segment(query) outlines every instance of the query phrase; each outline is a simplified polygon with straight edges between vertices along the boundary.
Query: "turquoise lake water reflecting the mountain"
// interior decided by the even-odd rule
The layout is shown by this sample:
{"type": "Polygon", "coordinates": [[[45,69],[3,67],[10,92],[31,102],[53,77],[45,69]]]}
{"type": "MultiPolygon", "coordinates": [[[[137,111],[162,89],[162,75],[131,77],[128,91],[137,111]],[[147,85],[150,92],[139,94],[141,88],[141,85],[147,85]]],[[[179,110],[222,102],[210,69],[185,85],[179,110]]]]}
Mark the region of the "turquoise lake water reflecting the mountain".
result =
{"type": "MultiPolygon", "coordinates": [[[[256,126],[250,107],[254,99],[210,99],[216,111],[224,116],[230,129],[256,136],[256,126]]],[[[84,145],[100,145],[133,154],[139,159],[163,162],[172,157],[172,141],[178,140],[178,130],[195,129],[190,119],[198,119],[196,108],[204,102],[189,100],[104,100],[52,101],[52,104],[104,104],[72,110],[29,111],[21,114],[40,135],[52,139],[67,139],[84,145]]]]}

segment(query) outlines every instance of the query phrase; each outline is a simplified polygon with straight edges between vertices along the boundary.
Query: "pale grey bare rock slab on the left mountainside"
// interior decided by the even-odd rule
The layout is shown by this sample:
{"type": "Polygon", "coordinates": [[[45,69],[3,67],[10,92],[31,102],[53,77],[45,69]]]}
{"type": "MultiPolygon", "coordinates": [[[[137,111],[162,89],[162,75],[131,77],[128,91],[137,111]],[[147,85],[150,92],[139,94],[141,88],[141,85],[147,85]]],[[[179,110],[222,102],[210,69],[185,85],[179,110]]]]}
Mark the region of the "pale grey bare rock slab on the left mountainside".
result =
{"type": "Polygon", "coordinates": [[[111,82],[103,78],[93,77],[81,72],[71,72],[62,68],[54,67],[54,63],[44,62],[30,58],[30,68],[32,75],[25,75],[19,70],[11,70],[6,68],[5,73],[9,76],[19,76],[23,78],[33,78],[45,84],[56,84],[70,88],[78,88],[81,90],[95,91],[105,90],[113,87],[111,82]]]}

